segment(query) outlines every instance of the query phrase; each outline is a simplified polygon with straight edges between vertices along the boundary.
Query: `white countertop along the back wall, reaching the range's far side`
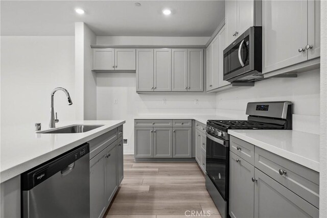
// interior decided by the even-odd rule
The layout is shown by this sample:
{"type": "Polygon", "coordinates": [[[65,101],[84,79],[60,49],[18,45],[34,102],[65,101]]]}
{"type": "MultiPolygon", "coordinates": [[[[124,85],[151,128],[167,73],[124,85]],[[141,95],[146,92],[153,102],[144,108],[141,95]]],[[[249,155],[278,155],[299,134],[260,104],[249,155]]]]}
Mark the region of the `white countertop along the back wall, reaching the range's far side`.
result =
{"type": "Polygon", "coordinates": [[[138,115],[136,117],[134,117],[134,119],[195,119],[198,122],[202,123],[202,124],[206,124],[207,120],[209,119],[233,119],[230,117],[225,117],[225,116],[218,116],[218,115],[200,115],[200,114],[181,114],[181,115],[177,115],[177,114],[146,114],[146,115],[138,115]]]}

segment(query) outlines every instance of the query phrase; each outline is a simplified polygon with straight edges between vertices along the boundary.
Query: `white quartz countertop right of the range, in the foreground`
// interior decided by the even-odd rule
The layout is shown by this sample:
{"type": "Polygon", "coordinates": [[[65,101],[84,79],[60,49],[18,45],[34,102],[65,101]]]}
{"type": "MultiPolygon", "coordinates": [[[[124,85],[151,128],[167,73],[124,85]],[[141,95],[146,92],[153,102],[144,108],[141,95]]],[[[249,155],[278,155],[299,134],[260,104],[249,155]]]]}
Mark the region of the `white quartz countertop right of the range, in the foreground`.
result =
{"type": "Polygon", "coordinates": [[[228,130],[228,134],[319,172],[319,135],[294,130],[228,130]]]}

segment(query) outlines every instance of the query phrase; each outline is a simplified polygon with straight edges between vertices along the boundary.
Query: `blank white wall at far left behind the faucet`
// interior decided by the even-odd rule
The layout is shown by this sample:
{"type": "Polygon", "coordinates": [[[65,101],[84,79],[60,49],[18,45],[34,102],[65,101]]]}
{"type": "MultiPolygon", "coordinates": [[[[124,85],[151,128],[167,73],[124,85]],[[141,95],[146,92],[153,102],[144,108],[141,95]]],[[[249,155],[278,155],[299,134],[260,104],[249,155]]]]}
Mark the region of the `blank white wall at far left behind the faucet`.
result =
{"type": "MultiPolygon", "coordinates": [[[[50,93],[64,87],[75,97],[73,36],[1,37],[1,126],[50,120],[50,93]]],[[[55,94],[59,120],[74,120],[64,92],[55,94]]],[[[44,127],[43,127],[44,128],[44,127]]]]}

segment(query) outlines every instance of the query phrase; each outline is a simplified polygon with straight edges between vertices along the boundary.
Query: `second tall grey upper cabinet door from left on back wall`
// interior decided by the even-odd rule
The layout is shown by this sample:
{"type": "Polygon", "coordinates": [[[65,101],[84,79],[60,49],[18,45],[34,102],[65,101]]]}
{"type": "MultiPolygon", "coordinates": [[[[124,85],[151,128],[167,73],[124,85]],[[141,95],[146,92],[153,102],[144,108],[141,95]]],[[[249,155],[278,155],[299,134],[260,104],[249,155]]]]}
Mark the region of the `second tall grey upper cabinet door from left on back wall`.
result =
{"type": "Polygon", "coordinates": [[[172,50],[154,50],[154,91],[171,91],[172,87],[172,50]]]}

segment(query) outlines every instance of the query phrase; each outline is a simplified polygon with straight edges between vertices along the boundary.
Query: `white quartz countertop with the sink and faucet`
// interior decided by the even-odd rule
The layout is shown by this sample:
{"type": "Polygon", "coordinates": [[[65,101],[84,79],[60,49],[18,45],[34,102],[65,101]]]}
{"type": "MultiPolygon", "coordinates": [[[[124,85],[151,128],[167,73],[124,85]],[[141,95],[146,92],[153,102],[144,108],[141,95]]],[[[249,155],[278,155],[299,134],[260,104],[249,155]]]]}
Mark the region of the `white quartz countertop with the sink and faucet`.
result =
{"type": "MultiPolygon", "coordinates": [[[[104,125],[88,132],[72,134],[35,133],[34,124],[2,126],[0,182],[24,173],[124,123],[125,120],[83,120],[56,124],[56,127],[73,124],[104,125]]],[[[48,125],[42,123],[41,130],[49,129],[48,125]]]]}

